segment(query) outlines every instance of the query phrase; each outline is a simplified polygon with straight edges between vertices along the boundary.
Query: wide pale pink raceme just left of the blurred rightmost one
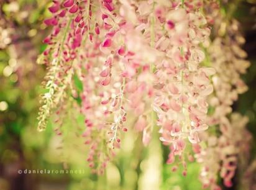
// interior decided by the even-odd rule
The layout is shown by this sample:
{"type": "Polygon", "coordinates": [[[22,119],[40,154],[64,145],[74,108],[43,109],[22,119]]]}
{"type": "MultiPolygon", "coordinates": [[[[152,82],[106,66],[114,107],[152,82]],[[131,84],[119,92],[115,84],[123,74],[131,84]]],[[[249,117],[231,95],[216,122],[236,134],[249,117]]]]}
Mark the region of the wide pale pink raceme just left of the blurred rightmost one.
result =
{"type": "MultiPolygon", "coordinates": [[[[200,66],[204,60],[200,44],[208,38],[209,29],[204,16],[196,11],[199,7],[192,4],[189,7],[187,11],[178,4],[168,11],[158,9],[166,15],[165,18],[162,15],[165,30],[162,34],[157,31],[157,49],[165,56],[156,63],[153,110],[161,127],[160,139],[170,145],[167,163],[173,163],[176,155],[184,160],[186,138],[198,144],[199,133],[208,129],[206,98],[213,92],[209,76],[215,71],[200,66]]],[[[156,21],[157,25],[161,20],[156,21]]]]}

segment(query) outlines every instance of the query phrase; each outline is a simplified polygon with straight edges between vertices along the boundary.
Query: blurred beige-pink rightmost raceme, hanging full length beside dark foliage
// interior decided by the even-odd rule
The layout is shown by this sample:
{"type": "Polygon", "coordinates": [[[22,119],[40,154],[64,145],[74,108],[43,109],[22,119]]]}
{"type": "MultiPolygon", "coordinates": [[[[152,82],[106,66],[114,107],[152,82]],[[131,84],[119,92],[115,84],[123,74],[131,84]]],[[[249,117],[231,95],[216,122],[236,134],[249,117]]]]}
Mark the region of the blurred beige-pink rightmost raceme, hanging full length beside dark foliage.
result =
{"type": "Polygon", "coordinates": [[[232,114],[231,107],[238,95],[247,90],[240,75],[244,74],[250,65],[249,61],[245,60],[246,53],[240,48],[244,38],[237,31],[237,25],[237,21],[232,20],[226,36],[216,37],[208,48],[212,66],[216,70],[216,75],[212,78],[214,93],[208,101],[213,109],[209,114],[208,124],[217,126],[221,135],[216,138],[213,136],[216,134],[204,134],[203,139],[214,138],[214,143],[208,140],[208,147],[196,156],[203,165],[200,175],[203,185],[211,189],[220,189],[217,186],[217,174],[224,179],[225,186],[231,187],[239,159],[249,153],[250,135],[245,129],[248,119],[239,114],[232,114]],[[245,136],[248,138],[245,139],[245,136]],[[209,158],[209,155],[214,153],[219,156],[209,158]],[[215,168],[209,167],[210,165],[215,168]]]}

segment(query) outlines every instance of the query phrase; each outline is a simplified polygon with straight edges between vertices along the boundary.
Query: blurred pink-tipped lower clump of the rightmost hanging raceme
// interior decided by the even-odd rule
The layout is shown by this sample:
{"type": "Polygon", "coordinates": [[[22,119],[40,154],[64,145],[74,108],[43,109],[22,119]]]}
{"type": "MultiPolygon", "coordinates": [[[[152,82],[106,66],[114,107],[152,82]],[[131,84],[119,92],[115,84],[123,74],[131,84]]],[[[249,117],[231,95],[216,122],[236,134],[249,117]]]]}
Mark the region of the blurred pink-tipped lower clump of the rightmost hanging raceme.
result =
{"type": "Polygon", "coordinates": [[[222,118],[219,124],[222,133],[220,137],[209,133],[204,133],[202,136],[208,147],[201,148],[195,158],[202,165],[199,178],[203,188],[221,189],[217,184],[218,174],[223,179],[224,186],[231,188],[237,163],[246,160],[249,156],[251,135],[245,129],[247,117],[233,113],[230,120],[222,118]]]}

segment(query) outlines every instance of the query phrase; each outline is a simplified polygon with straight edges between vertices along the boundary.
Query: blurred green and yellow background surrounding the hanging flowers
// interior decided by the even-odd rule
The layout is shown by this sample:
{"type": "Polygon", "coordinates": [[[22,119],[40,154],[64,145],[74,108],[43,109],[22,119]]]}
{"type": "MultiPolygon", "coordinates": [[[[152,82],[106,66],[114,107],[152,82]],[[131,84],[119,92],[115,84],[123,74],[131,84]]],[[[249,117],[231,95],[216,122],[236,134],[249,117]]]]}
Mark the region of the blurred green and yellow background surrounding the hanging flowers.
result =
{"type": "MultiPolygon", "coordinates": [[[[168,148],[162,147],[157,136],[145,148],[138,143],[139,134],[128,132],[117,158],[109,163],[103,176],[97,176],[89,170],[88,150],[83,141],[71,132],[76,127],[69,119],[74,111],[67,114],[63,138],[53,132],[51,122],[45,132],[37,131],[39,96],[46,70],[44,65],[37,65],[36,60],[45,50],[42,39],[49,31],[42,20],[50,15],[47,10],[50,2],[0,0],[0,190],[201,189],[199,164],[190,163],[186,177],[182,171],[171,173],[171,166],[165,164],[168,148]],[[65,128],[73,125],[71,129],[65,128]],[[20,169],[62,168],[82,172],[17,173],[20,169]]],[[[243,48],[251,62],[246,75],[242,76],[249,90],[240,95],[233,108],[249,117],[247,129],[254,136],[248,158],[252,163],[256,156],[256,1],[231,3],[234,3],[234,17],[240,21],[240,30],[246,39],[243,48]]],[[[77,123],[83,124],[83,117],[78,117],[77,123]]],[[[243,189],[237,176],[230,189],[243,189]]]]}

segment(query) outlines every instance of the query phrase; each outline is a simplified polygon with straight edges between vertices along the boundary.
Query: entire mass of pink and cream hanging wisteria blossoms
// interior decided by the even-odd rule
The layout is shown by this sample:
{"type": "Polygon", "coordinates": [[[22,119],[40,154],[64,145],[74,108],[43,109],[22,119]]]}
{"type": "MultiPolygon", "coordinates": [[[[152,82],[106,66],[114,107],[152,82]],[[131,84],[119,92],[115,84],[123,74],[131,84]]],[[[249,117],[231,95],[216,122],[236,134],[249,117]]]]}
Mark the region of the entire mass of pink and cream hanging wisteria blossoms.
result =
{"type": "MultiPolygon", "coordinates": [[[[205,50],[213,17],[204,16],[203,1],[54,0],[48,9],[52,17],[44,23],[52,32],[38,59],[48,66],[39,130],[45,129],[53,112],[62,111],[66,96],[80,99],[83,138],[90,147],[87,160],[94,172],[104,172],[127,130],[142,132],[142,142],[149,145],[158,127],[160,140],[170,148],[167,163],[178,158],[183,175],[186,160],[193,160],[186,157],[186,146],[192,145],[196,159],[204,164],[211,162],[206,156],[216,156],[220,148],[233,146],[237,153],[240,137],[230,138],[234,134],[228,131],[232,122],[227,115],[237,94],[246,89],[240,73],[249,65],[243,55],[235,54],[242,50],[233,42],[223,45],[216,38],[205,50]],[[206,53],[211,66],[204,66],[206,53]],[[82,84],[79,91],[75,80],[82,84]],[[215,109],[212,115],[209,105],[215,109]],[[135,118],[134,125],[127,124],[130,118],[135,118]],[[222,136],[205,140],[209,125],[219,125],[222,136]],[[207,150],[201,150],[201,140],[210,142],[207,150]]],[[[221,176],[229,186],[236,158],[233,152],[223,153],[213,159],[213,178],[207,174],[209,165],[201,176],[216,181],[221,159],[221,176]]],[[[209,186],[207,180],[204,186],[209,186]]]]}

